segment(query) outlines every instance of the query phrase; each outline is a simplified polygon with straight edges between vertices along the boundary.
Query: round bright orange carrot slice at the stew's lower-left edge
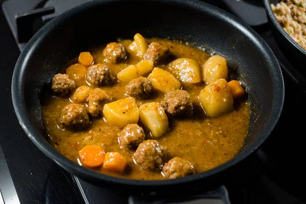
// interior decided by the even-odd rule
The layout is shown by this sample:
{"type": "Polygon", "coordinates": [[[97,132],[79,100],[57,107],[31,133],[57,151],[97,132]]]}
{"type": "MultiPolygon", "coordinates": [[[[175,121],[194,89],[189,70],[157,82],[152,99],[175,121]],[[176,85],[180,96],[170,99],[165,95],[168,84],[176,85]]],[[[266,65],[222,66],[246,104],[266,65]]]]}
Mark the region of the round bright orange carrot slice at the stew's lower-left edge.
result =
{"type": "Polygon", "coordinates": [[[87,145],[79,151],[81,163],[87,167],[101,166],[105,159],[105,152],[100,146],[87,145]]]}

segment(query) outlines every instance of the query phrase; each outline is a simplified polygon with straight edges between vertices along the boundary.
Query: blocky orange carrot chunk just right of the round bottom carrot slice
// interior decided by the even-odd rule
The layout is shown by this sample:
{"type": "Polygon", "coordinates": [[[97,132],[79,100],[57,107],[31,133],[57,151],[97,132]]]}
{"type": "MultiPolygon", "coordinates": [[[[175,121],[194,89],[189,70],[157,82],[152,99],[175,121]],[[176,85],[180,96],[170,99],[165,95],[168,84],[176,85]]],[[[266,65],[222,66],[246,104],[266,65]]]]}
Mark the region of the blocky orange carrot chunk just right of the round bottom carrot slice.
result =
{"type": "Polygon", "coordinates": [[[123,173],[127,162],[125,158],[118,152],[107,152],[105,155],[105,162],[103,164],[104,169],[117,171],[123,173]]]}

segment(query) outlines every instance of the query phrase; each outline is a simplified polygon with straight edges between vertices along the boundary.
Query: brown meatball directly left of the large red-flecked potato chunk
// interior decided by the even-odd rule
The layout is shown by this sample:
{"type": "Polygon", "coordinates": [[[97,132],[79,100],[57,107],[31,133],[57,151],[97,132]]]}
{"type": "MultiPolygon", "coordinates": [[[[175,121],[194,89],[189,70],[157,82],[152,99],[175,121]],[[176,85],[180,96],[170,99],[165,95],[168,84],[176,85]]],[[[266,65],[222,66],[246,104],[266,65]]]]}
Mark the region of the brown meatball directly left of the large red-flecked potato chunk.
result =
{"type": "Polygon", "coordinates": [[[161,101],[162,107],[172,116],[187,116],[192,113],[192,101],[185,90],[175,90],[167,93],[161,101]]]}

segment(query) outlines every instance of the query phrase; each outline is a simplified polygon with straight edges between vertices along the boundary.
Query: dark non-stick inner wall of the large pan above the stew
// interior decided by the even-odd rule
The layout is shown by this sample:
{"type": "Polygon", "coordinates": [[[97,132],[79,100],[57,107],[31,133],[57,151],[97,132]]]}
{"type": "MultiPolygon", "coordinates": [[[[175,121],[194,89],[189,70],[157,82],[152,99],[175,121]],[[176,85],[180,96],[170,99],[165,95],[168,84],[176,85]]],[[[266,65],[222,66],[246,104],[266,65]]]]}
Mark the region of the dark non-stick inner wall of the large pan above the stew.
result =
{"type": "Polygon", "coordinates": [[[40,30],[19,58],[13,99],[15,108],[23,103],[26,107],[26,112],[17,113],[19,119],[30,118],[23,125],[33,141],[44,137],[40,95],[53,75],[89,46],[116,37],[132,39],[135,33],[169,37],[209,48],[208,52],[224,56],[238,73],[252,107],[249,134],[239,155],[244,154],[251,144],[261,144],[273,128],[283,106],[284,87],[270,49],[233,18],[206,4],[187,1],[101,1],[70,10],[40,30]],[[19,95],[24,101],[16,101],[19,95]],[[33,134],[31,125],[39,135],[33,134]]]}

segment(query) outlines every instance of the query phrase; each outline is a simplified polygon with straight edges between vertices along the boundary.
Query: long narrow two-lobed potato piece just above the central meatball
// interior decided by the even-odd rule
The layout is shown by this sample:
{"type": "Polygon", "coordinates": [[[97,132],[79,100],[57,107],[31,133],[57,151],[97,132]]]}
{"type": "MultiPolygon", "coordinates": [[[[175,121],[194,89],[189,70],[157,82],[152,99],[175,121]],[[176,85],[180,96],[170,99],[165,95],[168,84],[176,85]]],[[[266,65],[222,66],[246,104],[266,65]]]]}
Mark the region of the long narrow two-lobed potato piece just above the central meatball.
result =
{"type": "Polygon", "coordinates": [[[138,77],[150,73],[153,70],[154,62],[152,60],[142,60],[137,65],[130,65],[117,74],[121,82],[130,82],[138,77]]]}

